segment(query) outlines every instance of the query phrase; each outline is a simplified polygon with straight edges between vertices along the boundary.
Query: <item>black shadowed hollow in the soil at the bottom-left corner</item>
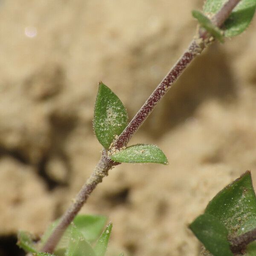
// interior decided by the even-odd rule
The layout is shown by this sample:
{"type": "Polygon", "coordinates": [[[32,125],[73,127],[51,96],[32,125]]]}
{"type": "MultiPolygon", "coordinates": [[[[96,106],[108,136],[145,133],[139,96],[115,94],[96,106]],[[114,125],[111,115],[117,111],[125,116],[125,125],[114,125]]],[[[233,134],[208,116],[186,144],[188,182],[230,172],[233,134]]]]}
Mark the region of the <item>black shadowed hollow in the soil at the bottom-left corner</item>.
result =
{"type": "Polygon", "coordinates": [[[0,256],[25,256],[26,253],[17,245],[16,236],[0,236],[0,256]]]}

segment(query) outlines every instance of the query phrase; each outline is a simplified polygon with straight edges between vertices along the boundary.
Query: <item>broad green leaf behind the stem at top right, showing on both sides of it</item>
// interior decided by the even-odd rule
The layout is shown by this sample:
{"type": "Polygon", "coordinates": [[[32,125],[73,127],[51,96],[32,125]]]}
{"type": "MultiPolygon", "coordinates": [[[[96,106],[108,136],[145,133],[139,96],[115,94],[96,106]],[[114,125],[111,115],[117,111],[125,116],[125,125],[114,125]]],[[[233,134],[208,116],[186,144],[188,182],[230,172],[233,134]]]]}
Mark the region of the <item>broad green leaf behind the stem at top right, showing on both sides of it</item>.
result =
{"type": "MultiPolygon", "coordinates": [[[[207,16],[216,14],[227,0],[206,0],[203,11],[207,16]]],[[[241,0],[225,21],[223,29],[225,37],[239,35],[249,26],[256,7],[256,0],[241,0]]]]}

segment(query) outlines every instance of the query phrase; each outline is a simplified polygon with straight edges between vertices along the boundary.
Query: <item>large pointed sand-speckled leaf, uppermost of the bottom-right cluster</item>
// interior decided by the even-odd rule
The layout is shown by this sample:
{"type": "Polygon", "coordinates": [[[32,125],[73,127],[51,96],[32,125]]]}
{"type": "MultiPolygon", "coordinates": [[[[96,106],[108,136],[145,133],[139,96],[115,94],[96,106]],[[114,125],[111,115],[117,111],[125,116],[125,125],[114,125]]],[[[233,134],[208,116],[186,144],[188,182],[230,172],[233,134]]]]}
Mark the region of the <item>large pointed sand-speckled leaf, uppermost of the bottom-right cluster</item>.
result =
{"type": "Polygon", "coordinates": [[[229,235],[256,218],[256,196],[250,172],[245,172],[222,189],[207,205],[205,213],[215,216],[227,228],[229,235]]]}

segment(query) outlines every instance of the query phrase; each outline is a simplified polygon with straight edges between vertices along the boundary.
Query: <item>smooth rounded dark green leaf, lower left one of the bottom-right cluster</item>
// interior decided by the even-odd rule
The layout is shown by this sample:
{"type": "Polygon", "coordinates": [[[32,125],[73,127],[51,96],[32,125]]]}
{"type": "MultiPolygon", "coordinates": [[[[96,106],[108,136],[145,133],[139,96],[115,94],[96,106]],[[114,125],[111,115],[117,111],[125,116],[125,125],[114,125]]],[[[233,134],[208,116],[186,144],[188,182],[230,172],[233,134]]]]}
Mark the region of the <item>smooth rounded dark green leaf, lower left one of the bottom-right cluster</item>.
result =
{"type": "Polygon", "coordinates": [[[233,256],[227,240],[227,228],[212,215],[200,215],[189,228],[214,256],[233,256]]]}

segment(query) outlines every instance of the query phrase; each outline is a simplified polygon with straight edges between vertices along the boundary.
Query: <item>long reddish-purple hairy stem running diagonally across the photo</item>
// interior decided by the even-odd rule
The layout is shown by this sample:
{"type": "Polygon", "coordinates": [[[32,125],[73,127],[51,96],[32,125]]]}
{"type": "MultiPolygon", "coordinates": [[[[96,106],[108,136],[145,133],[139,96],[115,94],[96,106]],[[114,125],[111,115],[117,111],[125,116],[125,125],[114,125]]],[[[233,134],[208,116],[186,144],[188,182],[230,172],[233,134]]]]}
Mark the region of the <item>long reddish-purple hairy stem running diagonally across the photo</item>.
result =
{"type": "MultiPolygon", "coordinates": [[[[212,21],[215,23],[215,25],[221,26],[228,18],[230,12],[233,10],[236,4],[239,3],[239,1],[240,0],[228,0],[227,3],[221,8],[221,10],[212,18],[212,21]]],[[[149,96],[142,108],[140,108],[140,110],[127,125],[122,134],[120,134],[118,139],[114,142],[113,147],[119,149],[127,145],[128,141],[131,139],[134,133],[138,130],[138,128],[140,128],[145,119],[149,116],[151,111],[154,109],[160,99],[163,98],[163,96],[166,94],[172,84],[177,80],[180,74],[183,73],[188,64],[211,42],[210,37],[211,35],[209,35],[205,30],[199,30],[198,35],[196,35],[188,49],[183,53],[174,67],[172,67],[166,77],[157,86],[151,96],[149,96]]],[[[119,163],[114,163],[104,150],[102,153],[102,158],[96,166],[96,169],[79,191],[74,203],[64,213],[60,223],[52,232],[51,236],[41,251],[47,253],[52,253],[54,251],[64,231],[73,221],[84,203],[87,201],[90,193],[93,191],[93,189],[95,189],[98,183],[102,182],[103,177],[108,175],[108,171],[117,164],[119,163]]]]}

